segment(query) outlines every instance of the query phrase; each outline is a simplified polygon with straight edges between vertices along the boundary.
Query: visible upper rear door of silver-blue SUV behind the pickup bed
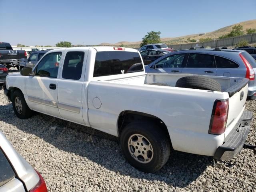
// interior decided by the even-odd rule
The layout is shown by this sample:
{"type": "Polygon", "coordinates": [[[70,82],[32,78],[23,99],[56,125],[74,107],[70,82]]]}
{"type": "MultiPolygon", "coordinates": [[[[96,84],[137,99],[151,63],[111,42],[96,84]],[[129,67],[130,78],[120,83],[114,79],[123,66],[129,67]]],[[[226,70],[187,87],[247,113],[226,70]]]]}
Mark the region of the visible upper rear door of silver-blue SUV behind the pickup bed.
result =
{"type": "Polygon", "coordinates": [[[213,55],[190,53],[182,73],[216,76],[217,68],[213,55]]]}

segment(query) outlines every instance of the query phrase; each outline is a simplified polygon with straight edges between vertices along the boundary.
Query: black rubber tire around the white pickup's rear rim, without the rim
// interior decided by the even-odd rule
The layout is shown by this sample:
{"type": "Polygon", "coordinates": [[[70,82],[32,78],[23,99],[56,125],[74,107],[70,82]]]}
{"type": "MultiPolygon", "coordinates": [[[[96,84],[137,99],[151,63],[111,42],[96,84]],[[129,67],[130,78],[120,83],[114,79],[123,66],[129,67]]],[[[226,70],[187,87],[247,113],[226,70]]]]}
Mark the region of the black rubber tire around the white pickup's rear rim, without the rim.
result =
{"type": "MultiPolygon", "coordinates": [[[[120,143],[126,160],[132,166],[143,172],[154,173],[160,170],[160,168],[166,164],[170,156],[169,138],[164,130],[154,122],[140,121],[128,124],[121,133],[120,143]],[[151,160],[148,163],[138,162],[129,152],[131,146],[128,146],[128,141],[134,134],[144,136],[152,146],[153,152],[151,153],[151,160]]],[[[136,144],[138,143],[136,142],[136,144]]],[[[140,150],[140,148],[138,148],[138,150],[140,150]]]]}

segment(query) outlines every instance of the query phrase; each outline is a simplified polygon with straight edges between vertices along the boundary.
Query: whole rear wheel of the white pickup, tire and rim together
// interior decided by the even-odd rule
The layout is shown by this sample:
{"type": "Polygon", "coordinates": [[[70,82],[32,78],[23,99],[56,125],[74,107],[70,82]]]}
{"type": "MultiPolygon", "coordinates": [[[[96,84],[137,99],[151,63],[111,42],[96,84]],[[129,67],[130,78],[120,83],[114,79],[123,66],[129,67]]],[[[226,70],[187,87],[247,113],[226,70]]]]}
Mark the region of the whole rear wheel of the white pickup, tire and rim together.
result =
{"type": "Polygon", "coordinates": [[[121,148],[126,160],[138,170],[154,173],[170,156],[167,134],[154,122],[132,122],[121,133],[121,148]]]}

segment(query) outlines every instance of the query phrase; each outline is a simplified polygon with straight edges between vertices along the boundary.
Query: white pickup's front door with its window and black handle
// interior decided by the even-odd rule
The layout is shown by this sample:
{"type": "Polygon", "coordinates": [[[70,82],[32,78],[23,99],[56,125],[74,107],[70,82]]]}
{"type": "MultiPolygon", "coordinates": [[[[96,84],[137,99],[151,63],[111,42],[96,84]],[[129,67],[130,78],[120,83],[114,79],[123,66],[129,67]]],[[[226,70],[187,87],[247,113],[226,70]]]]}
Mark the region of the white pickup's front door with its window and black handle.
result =
{"type": "Polygon", "coordinates": [[[32,110],[60,117],[57,100],[59,64],[62,52],[50,52],[34,68],[35,76],[26,80],[28,106],[32,110]]]}

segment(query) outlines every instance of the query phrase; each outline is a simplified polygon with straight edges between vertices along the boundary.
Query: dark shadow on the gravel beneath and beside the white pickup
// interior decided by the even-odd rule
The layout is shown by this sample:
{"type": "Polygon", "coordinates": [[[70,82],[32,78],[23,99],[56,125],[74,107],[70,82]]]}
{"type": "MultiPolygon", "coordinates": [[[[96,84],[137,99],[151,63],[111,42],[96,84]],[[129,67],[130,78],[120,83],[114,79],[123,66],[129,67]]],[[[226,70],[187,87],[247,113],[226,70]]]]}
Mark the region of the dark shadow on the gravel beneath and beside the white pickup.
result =
{"type": "Polygon", "coordinates": [[[38,113],[30,119],[21,120],[13,113],[11,104],[0,106],[0,121],[34,134],[60,150],[77,154],[82,157],[81,161],[88,159],[122,175],[161,181],[173,187],[188,186],[214,163],[211,157],[174,151],[161,170],[154,174],[143,173],[126,162],[118,138],[104,132],[38,113]],[[52,126],[57,126],[56,130],[52,126]]]}

